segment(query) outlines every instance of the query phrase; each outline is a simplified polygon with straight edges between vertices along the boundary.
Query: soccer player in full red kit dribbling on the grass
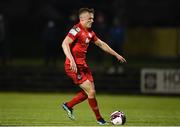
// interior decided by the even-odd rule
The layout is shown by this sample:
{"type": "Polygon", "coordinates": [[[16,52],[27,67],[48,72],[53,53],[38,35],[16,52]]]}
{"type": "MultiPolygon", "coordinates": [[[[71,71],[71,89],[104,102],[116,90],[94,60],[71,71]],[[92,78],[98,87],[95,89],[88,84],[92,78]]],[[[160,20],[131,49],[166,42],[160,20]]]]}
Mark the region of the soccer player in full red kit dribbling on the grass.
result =
{"type": "Polygon", "coordinates": [[[73,107],[87,99],[98,124],[106,124],[98,108],[93,76],[86,63],[87,49],[90,43],[95,43],[105,52],[115,56],[118,61],[123,63],[126,60],[96,36],[91,29],[93,22],[94,9],[81,8],[79,10],[79,23],[74,25],[62,43],[66,55],[66,74],[73,80],[74,84],[82,89],[72,100],[63,103],[62,107],[67,112],[68,117],[74,120],[73,107]]]}

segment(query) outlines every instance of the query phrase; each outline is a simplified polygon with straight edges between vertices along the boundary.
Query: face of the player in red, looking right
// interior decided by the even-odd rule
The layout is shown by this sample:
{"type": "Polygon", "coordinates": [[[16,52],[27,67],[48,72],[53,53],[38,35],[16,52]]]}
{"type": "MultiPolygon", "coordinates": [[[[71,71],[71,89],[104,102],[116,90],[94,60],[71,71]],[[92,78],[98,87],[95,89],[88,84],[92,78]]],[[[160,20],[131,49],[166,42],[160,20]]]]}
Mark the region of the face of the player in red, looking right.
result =
{"type": "Polygon", "coordinates": [[[92,23],[94,22],[94,14],[93,13],[85,13],[83,16],[84,27],[91,28],[92,23]]]}

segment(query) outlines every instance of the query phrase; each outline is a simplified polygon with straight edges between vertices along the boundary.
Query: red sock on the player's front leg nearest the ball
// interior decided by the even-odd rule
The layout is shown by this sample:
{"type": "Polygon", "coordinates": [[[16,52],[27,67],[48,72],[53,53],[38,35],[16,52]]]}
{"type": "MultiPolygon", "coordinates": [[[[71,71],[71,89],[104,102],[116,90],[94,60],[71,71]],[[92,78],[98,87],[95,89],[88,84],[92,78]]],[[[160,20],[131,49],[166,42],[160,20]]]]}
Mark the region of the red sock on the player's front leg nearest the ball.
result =
{"type": "Polygon", "coordinates": [[[97,105],[97,101],[95,98],[88,98],[89,105],[91,106],[91,109],[93,110],[94,114],[96,115],[96,119],[102,118],[99,113],[99,108],[97,105]]]}

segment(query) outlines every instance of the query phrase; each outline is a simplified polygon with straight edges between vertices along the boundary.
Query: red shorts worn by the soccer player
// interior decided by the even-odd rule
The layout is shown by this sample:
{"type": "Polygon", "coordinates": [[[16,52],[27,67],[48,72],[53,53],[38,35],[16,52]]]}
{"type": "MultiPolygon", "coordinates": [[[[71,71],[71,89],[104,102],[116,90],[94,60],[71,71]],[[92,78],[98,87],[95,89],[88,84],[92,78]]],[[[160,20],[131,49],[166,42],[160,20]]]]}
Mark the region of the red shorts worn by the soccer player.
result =
{"type": "Polygon", "coordinates": [[[78,73],[75,73],[70,70],[69,66],[69,64],[65,64],[65,71],[75,84],[80,85],[87,79],[93,82],[92,73],[88,67],[78,68],[78,73]]]}

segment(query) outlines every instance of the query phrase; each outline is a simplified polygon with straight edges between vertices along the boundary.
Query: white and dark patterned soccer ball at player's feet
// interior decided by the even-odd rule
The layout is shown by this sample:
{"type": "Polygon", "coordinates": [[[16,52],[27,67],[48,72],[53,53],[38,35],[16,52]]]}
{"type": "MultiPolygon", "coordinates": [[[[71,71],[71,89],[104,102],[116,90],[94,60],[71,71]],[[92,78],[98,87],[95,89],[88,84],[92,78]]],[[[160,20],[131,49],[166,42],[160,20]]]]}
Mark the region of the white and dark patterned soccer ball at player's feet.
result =
{"type": "Polygon", "coordinates": [[[121,111],[111,113],[110,121],[114,125],[123,125],[126,122],[126,116],[121,111]]]}

